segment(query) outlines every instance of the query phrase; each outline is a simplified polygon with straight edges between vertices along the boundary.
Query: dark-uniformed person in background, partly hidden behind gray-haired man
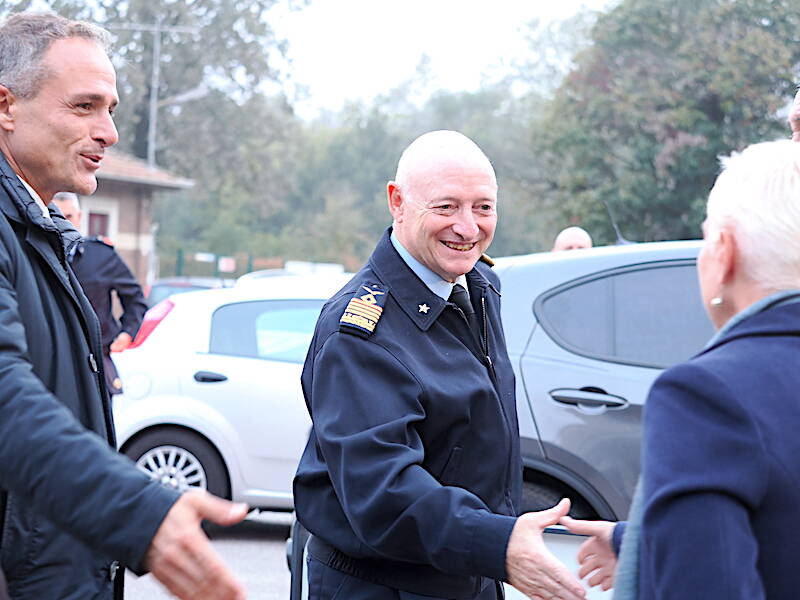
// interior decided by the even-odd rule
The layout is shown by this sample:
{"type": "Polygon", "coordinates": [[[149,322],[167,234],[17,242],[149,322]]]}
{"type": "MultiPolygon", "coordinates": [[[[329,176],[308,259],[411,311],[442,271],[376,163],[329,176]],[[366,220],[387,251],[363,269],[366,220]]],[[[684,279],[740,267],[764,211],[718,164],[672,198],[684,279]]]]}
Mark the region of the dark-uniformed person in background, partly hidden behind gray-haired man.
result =
{"type": "MultiPolygon", "coordinates": [[[[75,229],[80,229],[82,213],[77,194],[58,192],[53,196],[53,203],[75,229]]],[[[147,312],[142,288],[107,238],[83,238],[72,247],[68,260],[100,320],[106,383],[112,394],[119,394],[122,381],[111,360],[111,352],[125,350],[139,331],[147,312]],[[122,304],[119,320],[112,311],[112,290],[122,304]]]]}

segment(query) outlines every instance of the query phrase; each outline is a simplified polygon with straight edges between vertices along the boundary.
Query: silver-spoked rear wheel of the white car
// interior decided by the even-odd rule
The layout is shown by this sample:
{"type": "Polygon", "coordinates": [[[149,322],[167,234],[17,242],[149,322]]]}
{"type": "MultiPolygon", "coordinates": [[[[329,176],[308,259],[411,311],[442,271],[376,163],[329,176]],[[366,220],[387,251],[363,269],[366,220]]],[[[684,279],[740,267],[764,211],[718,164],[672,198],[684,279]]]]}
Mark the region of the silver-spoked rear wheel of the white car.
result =
{"type": "Polygon", "coordinates": [[[153,481],[178,491],[208,490],[230,498],[225,465],[211,444],[176,428],[148,431],[125,448],[136,467],[153,481]]]}

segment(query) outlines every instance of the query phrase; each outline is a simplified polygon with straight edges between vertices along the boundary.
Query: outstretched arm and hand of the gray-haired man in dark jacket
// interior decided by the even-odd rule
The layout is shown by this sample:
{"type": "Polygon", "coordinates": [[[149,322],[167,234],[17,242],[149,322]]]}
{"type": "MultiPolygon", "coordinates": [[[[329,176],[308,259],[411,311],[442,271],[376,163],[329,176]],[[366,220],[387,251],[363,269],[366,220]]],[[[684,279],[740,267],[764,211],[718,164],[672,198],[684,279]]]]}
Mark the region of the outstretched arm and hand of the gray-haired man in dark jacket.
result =
{"type": "Polygon", "coordinates": [[[206,493],[178,497],[86,430],[27,358],[16,292],[0,269],[0,488],[91,548],[153,574],[180,598],[244,597],[200,529],[245,507],[206,493]]]}

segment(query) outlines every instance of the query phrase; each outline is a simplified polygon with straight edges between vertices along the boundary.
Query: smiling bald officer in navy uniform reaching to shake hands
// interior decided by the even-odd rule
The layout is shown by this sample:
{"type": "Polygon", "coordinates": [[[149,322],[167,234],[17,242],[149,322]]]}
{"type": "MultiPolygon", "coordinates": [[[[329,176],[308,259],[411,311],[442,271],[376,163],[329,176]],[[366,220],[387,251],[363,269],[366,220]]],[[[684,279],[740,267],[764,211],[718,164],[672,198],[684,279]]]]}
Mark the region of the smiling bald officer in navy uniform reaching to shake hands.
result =
{"type": "Polygon", "coordinates": [[[517,517],[522,465],[499,280],[483,256],[497,182],[468,138],[403,153],[394,218],[323,308],[303,369],[313,427],[294,481],[310,600],[584,597],[542,529],[517,517]]]}

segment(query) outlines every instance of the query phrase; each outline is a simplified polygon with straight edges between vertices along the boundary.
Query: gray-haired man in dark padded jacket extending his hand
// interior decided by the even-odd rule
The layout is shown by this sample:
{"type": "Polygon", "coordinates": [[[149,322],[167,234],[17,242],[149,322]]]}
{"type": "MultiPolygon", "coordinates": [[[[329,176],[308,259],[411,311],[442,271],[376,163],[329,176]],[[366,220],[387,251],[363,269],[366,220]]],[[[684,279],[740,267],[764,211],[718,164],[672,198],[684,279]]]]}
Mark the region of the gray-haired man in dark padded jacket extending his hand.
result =
{"type": "Polygon", "coordinates": [[[13,600],[122,596],[120,564],[180,598],[244,592],[200,529],[243,505],[179,495],[114,451],[97,319],[46,204],[91,194],[117,142],[108,34],[52,14],[0,26],[0,566],[13,600]]]}

